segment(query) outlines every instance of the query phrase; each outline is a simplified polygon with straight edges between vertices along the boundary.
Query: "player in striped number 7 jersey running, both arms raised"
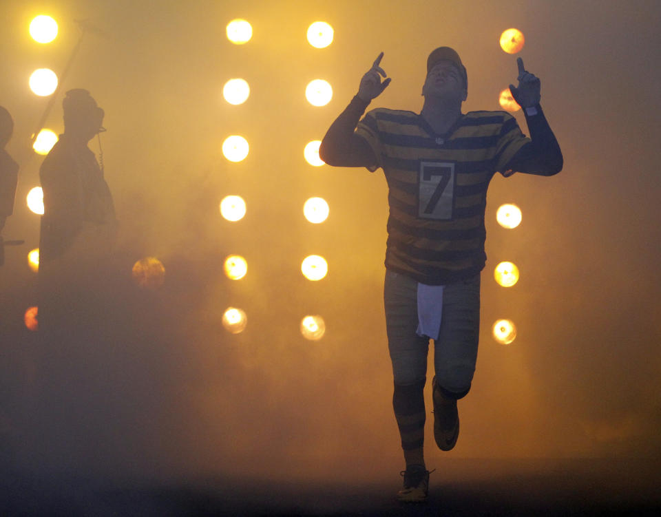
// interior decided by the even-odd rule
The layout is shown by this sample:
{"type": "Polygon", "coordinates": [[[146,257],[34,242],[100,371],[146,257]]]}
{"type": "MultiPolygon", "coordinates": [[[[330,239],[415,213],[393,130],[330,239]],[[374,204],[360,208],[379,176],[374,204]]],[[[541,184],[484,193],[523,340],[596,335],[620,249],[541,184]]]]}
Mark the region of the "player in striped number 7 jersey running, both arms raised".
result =
{"type": "Polygon", "coordinates": [[[388,242],[384,302],[395,390],[392,405],[406,461],[403,501],[425,500],[423,458],[429,339],[434,339],[434,438],[450,450],[459,436],[457,400],[470,390],[479,340],[480,272],[487,187],[496,172],[552,176],[563,156],[542,112],[540,81],[518,63],[518,88],[532,140],[505,112],[461,113],[468,75],[448,47],[427,60],[420,114],[377,108],[390,83],[381,53],[358,94],[330,126],[319,154],[328,165],[384,169],[388,242]]]}

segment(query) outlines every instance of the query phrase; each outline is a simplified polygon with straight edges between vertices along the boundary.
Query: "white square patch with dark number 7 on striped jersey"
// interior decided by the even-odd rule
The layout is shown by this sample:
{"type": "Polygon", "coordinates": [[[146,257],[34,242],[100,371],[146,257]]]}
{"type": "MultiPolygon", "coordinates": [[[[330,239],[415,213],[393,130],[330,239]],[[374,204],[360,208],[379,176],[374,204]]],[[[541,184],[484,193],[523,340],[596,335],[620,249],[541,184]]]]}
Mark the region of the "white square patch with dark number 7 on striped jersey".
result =
{"type": "Polygon", "coordinates": [[[454,163],[421,162],[418,217],[450,220],[454,206],[454,163]]]}

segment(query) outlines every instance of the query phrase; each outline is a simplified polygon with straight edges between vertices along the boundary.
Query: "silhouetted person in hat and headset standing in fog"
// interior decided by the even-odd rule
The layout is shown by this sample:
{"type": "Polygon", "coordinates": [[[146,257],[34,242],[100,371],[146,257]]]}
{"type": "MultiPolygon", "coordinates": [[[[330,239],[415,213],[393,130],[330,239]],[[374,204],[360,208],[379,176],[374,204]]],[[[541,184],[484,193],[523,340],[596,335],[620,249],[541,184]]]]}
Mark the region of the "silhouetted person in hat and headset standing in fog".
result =
{"type": "MultiPolygon", "coordinates": [[[[44,213],[39,244],[39,334],[50,452],[75,458],[99,411],[107,344],[109,255],[116,218],[111,193],[87,143],[104,112],[85,89],[63,101],[64,134],[41,165],[44,213]],[[101,363],[101,364],[98,364],[101,363]],[[102,376],[103,377],[103,376],[102,376]]],[[[82,456],[78,454],[78,456],[82,456]]]]}

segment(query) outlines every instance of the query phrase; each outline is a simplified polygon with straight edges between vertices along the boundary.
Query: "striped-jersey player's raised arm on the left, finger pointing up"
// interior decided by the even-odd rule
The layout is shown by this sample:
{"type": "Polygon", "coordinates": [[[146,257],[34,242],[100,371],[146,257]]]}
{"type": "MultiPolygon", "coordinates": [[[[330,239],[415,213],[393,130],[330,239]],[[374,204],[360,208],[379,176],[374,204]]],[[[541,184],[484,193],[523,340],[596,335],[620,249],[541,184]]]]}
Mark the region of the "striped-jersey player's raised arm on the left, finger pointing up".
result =
{"type": "Polygon", "coordinates": [[[319,157],[335,167],[369,167],[377,162],[374,151],[364,138],[354,133],[356,125],[373,98],[390,84],[390,78],[381,68],[381,52],[370,70],[361,78],[358,94],[344,112],[335,119],[319,147],[319,157]],[[381,81],[384,77],[384,81],[381,81]]]}

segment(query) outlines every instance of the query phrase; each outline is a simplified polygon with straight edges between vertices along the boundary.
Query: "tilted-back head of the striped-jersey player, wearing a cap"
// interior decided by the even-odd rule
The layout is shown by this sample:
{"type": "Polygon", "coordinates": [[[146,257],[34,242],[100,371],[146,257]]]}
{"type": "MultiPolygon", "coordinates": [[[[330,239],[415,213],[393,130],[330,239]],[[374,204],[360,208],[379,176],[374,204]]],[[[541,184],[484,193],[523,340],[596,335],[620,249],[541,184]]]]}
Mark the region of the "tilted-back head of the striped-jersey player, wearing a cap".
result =
{"type": "Polygon", "coordinates": [[[432,50],[427,58],[427,76],[422,87],[424,96],[468,97],[468,74],[457,51],[450,47],[432,50]]]}

